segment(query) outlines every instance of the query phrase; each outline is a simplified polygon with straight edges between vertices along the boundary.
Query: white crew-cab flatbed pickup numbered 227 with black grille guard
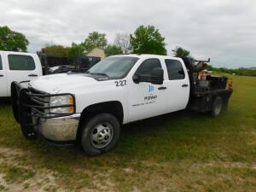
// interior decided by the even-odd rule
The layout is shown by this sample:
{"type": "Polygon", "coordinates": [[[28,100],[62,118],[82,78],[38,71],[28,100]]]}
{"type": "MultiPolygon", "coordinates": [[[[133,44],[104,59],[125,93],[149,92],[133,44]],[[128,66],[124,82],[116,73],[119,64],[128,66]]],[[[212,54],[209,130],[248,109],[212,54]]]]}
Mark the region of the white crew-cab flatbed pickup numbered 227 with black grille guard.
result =
{"type": "Polygon", "coordinates": [[[102,154],[117,143],[120,125],[132,121],[185,108],[217,116],[232,89],[225,88],[225,78],[208,77],[201,84],[195,74],[189,59],[115,55],[87,73],[13,83],[13,111],[27,139],[80,143],[85,154],[102,154]]]}

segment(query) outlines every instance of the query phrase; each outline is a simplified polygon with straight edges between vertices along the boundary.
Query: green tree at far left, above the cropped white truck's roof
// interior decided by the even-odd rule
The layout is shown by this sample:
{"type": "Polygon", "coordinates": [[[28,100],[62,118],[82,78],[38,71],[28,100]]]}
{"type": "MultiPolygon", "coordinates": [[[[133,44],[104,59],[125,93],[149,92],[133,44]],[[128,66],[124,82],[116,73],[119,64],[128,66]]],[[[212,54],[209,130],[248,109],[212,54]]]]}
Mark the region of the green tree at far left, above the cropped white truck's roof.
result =
{"type": "Polygon", "coordinates": [[[0,26],[0,49],[26,52],[29,44],[25,35],[9,29],[8,26],[0,26]]]}

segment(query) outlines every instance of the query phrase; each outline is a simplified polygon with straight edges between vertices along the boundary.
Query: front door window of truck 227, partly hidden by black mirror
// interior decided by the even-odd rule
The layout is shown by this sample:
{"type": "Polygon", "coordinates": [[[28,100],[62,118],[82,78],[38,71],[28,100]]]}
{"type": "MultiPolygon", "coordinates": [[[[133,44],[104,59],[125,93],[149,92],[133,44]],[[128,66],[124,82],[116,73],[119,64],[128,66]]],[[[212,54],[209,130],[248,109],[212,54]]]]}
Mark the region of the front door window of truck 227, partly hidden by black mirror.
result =
{"type": "Polygon", "coordinates": [[[158,59],[148,59],[143,61],[140,67],[137,68],[136,74],[151,75],[154,68],[161,68],[161,63],[158,59]]]}

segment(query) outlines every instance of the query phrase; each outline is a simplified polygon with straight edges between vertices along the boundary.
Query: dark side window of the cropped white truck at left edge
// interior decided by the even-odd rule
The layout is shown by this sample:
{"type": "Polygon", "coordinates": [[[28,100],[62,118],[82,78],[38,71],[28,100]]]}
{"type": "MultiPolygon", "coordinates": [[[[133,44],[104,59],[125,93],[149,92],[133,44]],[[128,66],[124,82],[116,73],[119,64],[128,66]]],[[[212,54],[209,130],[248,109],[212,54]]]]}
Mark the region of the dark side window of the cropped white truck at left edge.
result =
{"type": "Polygon", "coordinates": [[[8,55],[9,69],[20,71],[32,71],[36,68],[32,56],[29,55],[8,55]]]}

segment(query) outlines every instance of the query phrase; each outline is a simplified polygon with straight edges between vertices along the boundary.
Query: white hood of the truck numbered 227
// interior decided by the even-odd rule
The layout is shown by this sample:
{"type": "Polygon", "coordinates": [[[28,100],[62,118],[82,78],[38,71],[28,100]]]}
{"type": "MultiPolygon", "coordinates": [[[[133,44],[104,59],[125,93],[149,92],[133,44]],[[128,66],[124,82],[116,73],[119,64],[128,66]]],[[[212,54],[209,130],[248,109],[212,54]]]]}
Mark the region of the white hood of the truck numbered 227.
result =
{"type": "Polygon", "coordinates": [[[74,90],[81,85],[92,85],[96,83],[98,83],[96,79],[88,77],[84,73],[60,73],[39,77],[38,79],[32,80],[29,85],[36,90],[56,94],[74,90]]]}

